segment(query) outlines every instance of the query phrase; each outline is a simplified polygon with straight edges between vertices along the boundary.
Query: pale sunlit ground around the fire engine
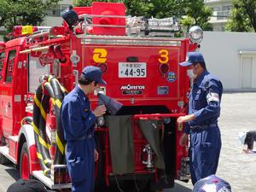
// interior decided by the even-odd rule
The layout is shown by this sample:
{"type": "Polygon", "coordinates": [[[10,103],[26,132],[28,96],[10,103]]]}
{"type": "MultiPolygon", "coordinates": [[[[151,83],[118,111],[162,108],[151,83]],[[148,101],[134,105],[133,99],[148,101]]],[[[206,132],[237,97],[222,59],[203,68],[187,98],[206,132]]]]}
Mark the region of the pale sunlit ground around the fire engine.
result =
{"type": "MultiPolygon", "coordinates": [[[[223,143],[217,175],[230,183],[232,192],[256,192],[256,154],[241,153],[237,137],[240,131],[256,130],[256,93],[225,93],[221,107],[223,143]]],[[[0,192],[5,192],[18,177],[13,166],[0,165],[0,192]]],[[[173,189],[165,192],[191,192],[192,188],[190,182],[177,181],[173,189]]]]}

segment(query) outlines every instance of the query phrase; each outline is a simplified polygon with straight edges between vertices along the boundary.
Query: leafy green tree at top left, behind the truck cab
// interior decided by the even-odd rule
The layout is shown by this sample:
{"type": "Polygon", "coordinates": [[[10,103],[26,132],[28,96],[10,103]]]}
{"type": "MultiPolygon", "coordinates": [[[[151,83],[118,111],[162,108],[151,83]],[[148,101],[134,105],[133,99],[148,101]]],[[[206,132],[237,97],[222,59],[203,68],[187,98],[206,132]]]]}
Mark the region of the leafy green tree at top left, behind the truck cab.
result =
{"type": "Polygon", "coordinates": [[[39,25],[43,19],[46,9],[54,6],[60,0],[0,0],[0,26],[8,31],[13,26],[39,25]]]}

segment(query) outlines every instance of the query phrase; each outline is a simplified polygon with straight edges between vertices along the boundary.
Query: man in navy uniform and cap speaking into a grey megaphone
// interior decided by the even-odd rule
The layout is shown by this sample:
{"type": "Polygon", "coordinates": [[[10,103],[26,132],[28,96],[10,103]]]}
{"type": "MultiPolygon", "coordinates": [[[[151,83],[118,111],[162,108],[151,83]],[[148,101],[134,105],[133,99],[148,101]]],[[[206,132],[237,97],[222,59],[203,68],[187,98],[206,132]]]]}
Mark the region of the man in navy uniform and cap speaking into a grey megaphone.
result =
{"type": "Polygon", "coordinates": [[[96,117],[106,113],[104,105],[90,110],[88,95],[106,85],[99,67],[84,67],[79,84],[65,96],[61,105],[61,123],[67,141],[67,169],[73,192],[94,191],[94,166],[98,159],[94,131],[96,117]]]}

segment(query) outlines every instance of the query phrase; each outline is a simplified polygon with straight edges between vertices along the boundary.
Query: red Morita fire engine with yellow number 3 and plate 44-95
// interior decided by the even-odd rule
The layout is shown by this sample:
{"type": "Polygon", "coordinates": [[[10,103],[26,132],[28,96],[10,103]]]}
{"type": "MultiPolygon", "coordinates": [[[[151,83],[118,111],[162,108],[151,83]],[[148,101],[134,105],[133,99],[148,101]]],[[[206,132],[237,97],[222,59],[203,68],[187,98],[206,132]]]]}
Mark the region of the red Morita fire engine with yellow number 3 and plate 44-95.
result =
{"type": "Polygon", "coordinates": [[[91,108],[98,93],[109,100],[96,125],[96,185],[153,190],[187,181],[177,117],[186,113],[189,78],[178,63],[199,47],[201,28],[174,38],[177,20],[125,16],[123,3],[70,8],[62,18],[62,26],[15,26],[15,38],[0,42],[0,163],[12,161],[20,177],[49,189],[70,188],[61,101],[93,65],[108,84],[91,108]],[[122,108],[113,115],[115,101],[122,108]]]}

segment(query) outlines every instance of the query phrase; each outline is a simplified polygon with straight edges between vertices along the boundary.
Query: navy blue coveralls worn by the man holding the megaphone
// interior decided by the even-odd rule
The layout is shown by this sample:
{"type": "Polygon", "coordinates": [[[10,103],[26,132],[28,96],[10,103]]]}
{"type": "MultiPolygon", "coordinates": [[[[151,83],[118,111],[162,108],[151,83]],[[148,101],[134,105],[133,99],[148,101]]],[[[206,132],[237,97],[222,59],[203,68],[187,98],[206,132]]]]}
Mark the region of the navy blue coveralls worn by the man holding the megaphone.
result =
{"type": "Polygon", "coordinates": [[[94,190],[94,130],[96,116],[90,110],[90,101],[76,86],[61,105],[61,124],[67,141],[67,168],[72,179],[73,192],[94,190]]]}

